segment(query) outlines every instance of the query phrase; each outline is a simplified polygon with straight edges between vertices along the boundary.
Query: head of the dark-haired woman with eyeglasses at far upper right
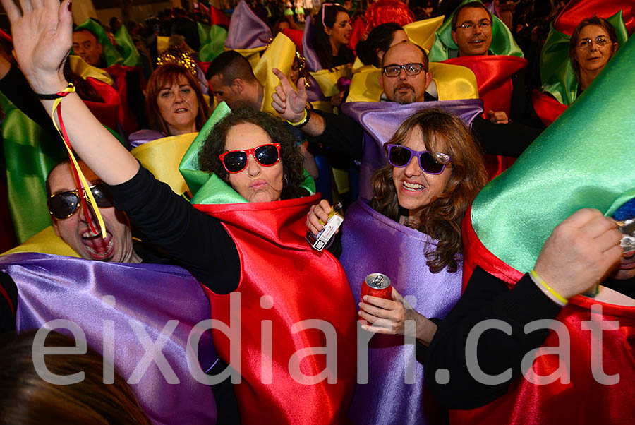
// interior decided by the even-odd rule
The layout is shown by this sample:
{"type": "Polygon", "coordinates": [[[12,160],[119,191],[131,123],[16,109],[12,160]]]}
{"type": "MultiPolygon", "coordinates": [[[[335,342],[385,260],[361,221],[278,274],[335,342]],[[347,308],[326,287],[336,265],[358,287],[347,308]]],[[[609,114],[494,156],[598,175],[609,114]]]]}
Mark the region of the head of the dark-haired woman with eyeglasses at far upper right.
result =
{"type": "Polygon", "coordinates": [[[578,80],[578,95],[586,90],[617,52],[617,33],[604,18],[582,20],[569,41],[569,59],[578,80]]]}

